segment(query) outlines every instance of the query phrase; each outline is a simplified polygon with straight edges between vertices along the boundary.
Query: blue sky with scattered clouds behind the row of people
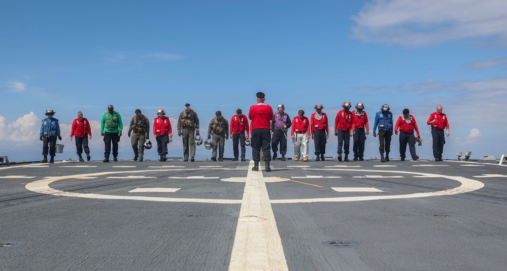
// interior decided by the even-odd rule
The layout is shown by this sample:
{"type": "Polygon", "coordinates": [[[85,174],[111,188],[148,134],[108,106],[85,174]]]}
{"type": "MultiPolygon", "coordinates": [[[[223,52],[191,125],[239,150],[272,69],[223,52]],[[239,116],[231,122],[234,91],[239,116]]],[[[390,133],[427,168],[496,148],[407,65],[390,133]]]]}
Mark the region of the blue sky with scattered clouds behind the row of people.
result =
{"type": "MultiPolygon", "coordinates": [[[[99,159],[98,121],[109,104],[128,125],[138,108],[150,119],[158,108],[177,118],[189,103],[204,127],[217,110],[227,119],[238,108],[247,113],[257,91],[291,117],[321,103],[334,119],[344,101],[362,102],[371,127],[383,104],[394,115],[409,108],[426,159],[426,121],[442,105],[451,126],[444,158],[458,150],[475,159],[507,154],[504,1],[6,0],[0,36],[0,155],[10,160],[42,157],[38,134],[49,108],[65,140],[57,158],[76,159],[69,125],[82,111],[99,159]]],[[[131,159],[125,138],[119,158],[131,159]]],[[[170,155],[181,156],[174,139],[170,155]]],[[[379,156],[377,138],[366,145],[366,157],[379,156]]],[[[392,149],[398,157],[398,137],[392,149]]],[[[334,137],[326,153],[336,156],[334,137]]],[[[196,156],[211,153],[198,147],[196,156]]]]}

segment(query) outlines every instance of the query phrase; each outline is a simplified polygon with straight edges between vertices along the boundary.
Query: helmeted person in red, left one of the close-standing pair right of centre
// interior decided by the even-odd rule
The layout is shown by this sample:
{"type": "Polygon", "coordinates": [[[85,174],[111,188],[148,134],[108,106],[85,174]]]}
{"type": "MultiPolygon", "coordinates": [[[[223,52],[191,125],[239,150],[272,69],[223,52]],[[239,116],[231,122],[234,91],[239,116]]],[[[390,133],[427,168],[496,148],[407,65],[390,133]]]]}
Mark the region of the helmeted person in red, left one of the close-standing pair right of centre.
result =
{"type": "Polygon", "coordinates": [[[334,135],[338,137],[338,161],[342,161],[342,146],[345,151],[345,162],[349,161],[350,129],[352,128],[352,105],[346,101],[334,118],[334,135]],[[345,145],[345,146],[344,146],[345,145]]]}

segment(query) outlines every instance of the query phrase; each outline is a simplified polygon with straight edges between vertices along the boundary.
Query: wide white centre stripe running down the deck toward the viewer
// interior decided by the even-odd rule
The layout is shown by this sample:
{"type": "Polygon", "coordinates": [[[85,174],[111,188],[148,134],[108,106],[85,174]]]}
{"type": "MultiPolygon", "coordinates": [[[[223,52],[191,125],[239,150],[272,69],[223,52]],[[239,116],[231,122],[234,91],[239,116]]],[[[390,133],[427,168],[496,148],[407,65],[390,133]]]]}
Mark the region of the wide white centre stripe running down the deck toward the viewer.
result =
{"type": "Polygon", "coordinates": [[[261,171],[250,161],[229,270],[289,270],[261,171]]]}

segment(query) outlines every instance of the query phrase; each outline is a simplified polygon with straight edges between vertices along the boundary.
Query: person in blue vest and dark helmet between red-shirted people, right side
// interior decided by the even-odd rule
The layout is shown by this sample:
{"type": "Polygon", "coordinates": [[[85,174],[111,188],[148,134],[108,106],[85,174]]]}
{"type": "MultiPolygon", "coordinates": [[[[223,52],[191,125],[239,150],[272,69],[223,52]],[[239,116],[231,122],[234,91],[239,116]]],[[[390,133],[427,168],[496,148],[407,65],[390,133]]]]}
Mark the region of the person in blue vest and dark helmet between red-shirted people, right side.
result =
{"type": "Polygon", "coordinates": [[[380,111],[375,115],[375,124],[373,125],[373,136],[377,137],[375,130],[379,126],[380,141],[380,159],[382,162],[389,161],[389,152],[391,151],[391,137],[393,135],[393,114],[389,111],[389,105],[383,105],[380,111]],[[384,151],[386,156],[384,157],[384,151]]]}

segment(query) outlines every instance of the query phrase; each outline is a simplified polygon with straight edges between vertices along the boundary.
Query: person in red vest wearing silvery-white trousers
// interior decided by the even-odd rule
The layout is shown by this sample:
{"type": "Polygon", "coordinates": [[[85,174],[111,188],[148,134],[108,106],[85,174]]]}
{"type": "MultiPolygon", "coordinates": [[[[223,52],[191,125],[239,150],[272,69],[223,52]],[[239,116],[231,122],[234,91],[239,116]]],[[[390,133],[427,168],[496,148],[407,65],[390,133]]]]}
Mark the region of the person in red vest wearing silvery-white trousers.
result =
{"type": "Polygon", "coordinates": [[[308,142],[310,141],[310,120],[305,117],[305,111],[299,110],[292,119],[290,138],[294,143],[294,161],[299,160],[302,154],[303,162],[308,161],[308,142]],[[300,149],[302,148],[301,152],[300,149]]]}

